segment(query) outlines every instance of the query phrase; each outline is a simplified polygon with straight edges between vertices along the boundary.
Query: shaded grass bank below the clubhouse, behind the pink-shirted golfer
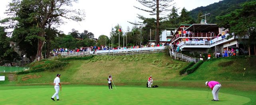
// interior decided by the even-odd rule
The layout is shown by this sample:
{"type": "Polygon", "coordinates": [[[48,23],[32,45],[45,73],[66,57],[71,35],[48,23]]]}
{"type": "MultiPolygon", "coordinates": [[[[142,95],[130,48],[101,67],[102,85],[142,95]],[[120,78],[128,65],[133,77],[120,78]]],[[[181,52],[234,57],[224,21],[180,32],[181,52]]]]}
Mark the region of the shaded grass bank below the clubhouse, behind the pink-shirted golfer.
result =
{"type": "Polygon", "coordinates": [[[255,62],[256,57],[205,61],[182,80],[256,81],[255,62]]]}

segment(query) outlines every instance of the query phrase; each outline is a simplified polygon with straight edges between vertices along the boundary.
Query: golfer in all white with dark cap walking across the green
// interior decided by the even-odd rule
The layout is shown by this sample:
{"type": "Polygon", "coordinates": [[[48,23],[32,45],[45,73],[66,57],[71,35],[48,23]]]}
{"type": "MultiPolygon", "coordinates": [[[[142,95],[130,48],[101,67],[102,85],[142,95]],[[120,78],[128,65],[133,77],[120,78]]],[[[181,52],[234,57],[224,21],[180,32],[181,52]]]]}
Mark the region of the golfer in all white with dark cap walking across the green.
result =
{"type": "Polygon", "coordinates": [[[56,92],[51,97],[51,99],[53,101],[55,101],[54,97],[56,96],[57,101],[59,101],[59,95],[58,95],[59,94],[59,90],[62,91],[62,85],[60,85],[60,74],[57,74],[57,77],[54,79],[54,89],[55,89],[56,92]]]}

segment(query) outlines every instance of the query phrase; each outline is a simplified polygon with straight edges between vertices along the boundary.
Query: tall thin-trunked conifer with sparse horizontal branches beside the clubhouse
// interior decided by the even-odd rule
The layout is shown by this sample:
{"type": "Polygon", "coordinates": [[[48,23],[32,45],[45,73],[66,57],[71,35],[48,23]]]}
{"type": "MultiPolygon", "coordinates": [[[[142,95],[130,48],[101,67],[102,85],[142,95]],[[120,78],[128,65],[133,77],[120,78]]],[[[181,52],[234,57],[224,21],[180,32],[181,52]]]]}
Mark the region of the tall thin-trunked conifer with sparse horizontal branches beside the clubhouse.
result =
{"type": "MultiPolygon", "coordinates": [[[[156,15],[156,21],[157,21],[157,43],[159,43],[159,32],[160,32],[160,20],[162,20],[165,17],[160,17],[161,15],[165,15],[166,12],[171,11],[169,9],[170,6],[173,4],[170,4],[173,0],[137,0],[139,3],[141,3],[143,6],[149,8],[150,10],[145,10],[143,8],[139,8],[134,6],[135,8],[139,10],[143,10],[145,12],[149,12],[149,15],[156,15]]],[[[141,16],[138,14],[138,17],[141,18],[141,16]]],[[[130,22],[131,23],[131,22],[130,22]]]]}

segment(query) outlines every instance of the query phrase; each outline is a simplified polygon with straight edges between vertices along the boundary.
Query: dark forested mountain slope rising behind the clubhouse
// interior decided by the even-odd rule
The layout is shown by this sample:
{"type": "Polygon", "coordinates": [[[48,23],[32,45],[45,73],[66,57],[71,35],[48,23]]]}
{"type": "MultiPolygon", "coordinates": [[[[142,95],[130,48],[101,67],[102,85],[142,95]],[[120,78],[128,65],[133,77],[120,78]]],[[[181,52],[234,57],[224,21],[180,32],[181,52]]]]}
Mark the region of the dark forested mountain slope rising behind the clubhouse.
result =
{"type": "MultiPolygon", "coordinates": [[[[203,14],[211,13],[210,16],[206,16],[208,24],[216,24],[216,16],[226,15],[235,9],[241,8],[240,5],[247,1],[253,0],[222,0],[208,6],[201,6],[190,11],[190,16],[194,20],[198,20],[198,13],[201,11],[203,14]]],[[[202,17],[204,18],[204,17],[202,17]]],[[[196,21],[196,23],[200,23],[196,21]]]]}

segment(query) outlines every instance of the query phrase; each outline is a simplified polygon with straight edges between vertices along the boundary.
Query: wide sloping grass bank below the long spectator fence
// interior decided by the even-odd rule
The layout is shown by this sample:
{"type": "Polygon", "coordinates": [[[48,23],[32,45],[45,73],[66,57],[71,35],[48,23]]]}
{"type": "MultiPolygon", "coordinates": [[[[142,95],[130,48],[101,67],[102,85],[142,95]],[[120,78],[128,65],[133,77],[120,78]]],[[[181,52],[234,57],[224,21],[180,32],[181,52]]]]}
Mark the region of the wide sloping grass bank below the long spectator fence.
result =
{"type": "Polygon", "coordinates": [[[171,60],[164,53],[95,56],[89,60],[70,60],[62,70],[18,75],[17,83],[52,83],[57,73],[62,75],[62,82],[69,83],[106,83],[109,74],[114,82],[146,82],[149,75],[158,81],[180,80],[179,70],[187,64],[171,60]]]}

